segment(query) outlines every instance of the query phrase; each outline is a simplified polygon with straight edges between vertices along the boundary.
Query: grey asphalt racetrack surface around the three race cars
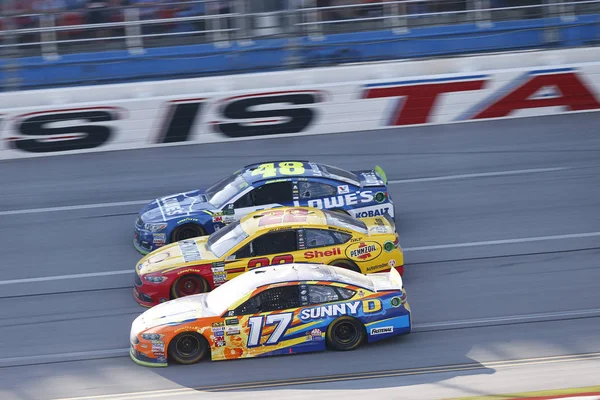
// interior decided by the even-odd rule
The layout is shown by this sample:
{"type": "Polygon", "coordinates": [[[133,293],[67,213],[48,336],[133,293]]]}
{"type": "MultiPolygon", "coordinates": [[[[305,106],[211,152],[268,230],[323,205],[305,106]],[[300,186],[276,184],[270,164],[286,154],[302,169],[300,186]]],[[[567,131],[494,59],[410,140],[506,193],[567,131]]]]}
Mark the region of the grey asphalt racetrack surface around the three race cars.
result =
{"type": "Polygon", "coordinates": [[[600,384],[598,126],[599,113],[582,113],[0,162],[0,399],[442,398],[600,384]],[[142,203],[288,158],[386,170],[415,331],[353,352],[135,365],[142,203]]]}

